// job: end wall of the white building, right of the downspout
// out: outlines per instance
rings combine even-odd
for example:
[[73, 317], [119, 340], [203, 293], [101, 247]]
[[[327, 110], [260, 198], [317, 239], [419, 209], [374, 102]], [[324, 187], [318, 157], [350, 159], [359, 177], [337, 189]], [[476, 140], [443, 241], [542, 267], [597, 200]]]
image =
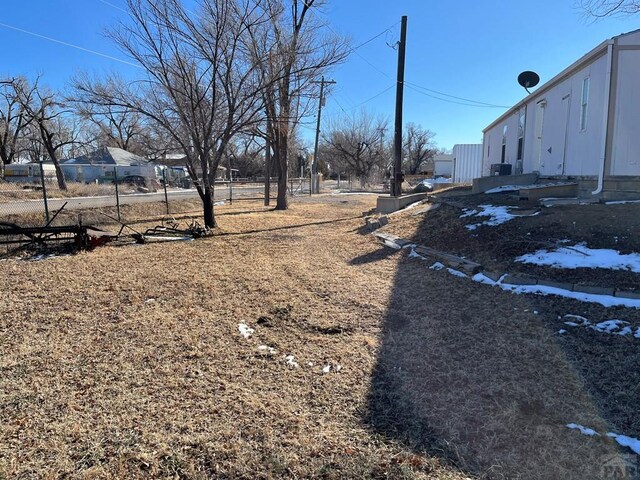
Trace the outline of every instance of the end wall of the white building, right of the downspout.
[[618, 52], [611, 175], [640, 175], [640, 51]]

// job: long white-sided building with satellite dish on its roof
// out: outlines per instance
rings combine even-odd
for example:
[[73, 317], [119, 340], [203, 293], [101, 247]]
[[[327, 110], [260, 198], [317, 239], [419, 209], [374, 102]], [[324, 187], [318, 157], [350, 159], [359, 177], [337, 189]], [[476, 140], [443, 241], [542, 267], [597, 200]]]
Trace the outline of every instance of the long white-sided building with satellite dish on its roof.
[[582, 195], [640, 196], [639, 78], [640, 30], [602, 42], [484, 129], [483, 175], [494, 166], [575, 180]]

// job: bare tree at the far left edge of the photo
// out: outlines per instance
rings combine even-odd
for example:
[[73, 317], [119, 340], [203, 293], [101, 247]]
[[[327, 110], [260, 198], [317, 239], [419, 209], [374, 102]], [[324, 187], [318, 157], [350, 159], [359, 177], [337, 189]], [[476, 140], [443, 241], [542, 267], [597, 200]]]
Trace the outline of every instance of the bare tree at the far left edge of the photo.
[[4, 166], [20, 155], [21, 139], [31, 121], [18, 97], [18, 92], [25, 92], [30, 101], [33, 92], [26, 83], [25, 78], [0, 81], [0, 176], [4, 176]]

